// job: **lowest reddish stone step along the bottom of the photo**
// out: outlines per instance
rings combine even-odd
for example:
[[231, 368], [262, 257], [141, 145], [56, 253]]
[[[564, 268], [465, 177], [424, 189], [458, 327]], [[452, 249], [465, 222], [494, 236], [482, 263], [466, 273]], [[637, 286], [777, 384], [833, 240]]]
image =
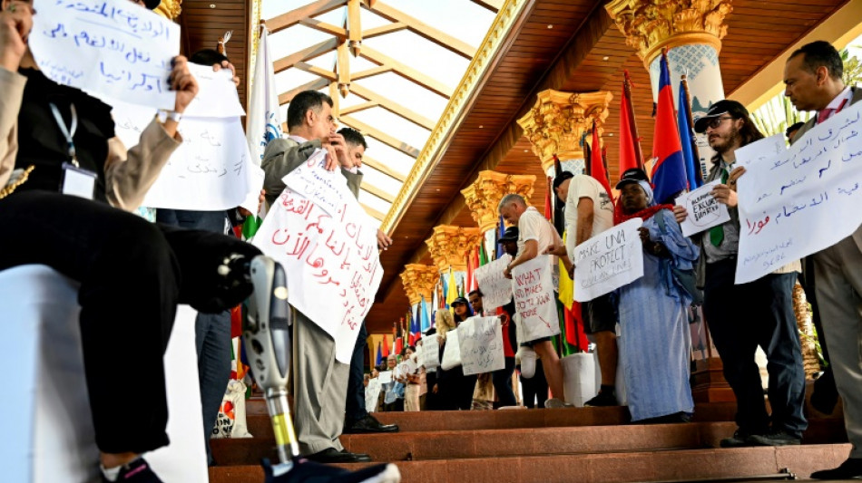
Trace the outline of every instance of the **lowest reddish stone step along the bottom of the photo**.
[[[817, 469], [838, 466], [847, 459], [849, 450], [848, 444], [811, 444], [782, 448], [429, 459], [399, 461], [397, 466], [405, 482], [434, 483], [691, 481], [704, 478], [754, 478], [775, 475], [782, 469], [789, 469], [798, 478], [808, 478]], [[361, 465], [341, 466], [361, 468]], [[263, 471], [256, 465], [215, 467], [210, 469], [210, 481], [260, 483], [263, 481]]]

